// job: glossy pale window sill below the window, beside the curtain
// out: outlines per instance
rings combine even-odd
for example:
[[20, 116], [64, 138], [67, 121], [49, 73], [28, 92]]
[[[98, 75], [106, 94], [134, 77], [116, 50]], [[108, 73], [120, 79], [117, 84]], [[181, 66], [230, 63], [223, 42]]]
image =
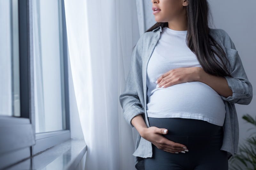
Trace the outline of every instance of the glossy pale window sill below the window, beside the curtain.
[[70, 139], [39, 152], [30, 159], [26, 159], [14, 166], [12, 169], [63, 169], [73, 170], [83, 158], [87, 151], [84, 139]]

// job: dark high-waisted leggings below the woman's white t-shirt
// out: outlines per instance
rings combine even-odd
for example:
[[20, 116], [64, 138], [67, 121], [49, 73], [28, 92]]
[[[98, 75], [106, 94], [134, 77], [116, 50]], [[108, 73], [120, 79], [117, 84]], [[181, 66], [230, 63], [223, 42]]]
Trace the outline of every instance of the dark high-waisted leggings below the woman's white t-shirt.
[[228, 170], [227, 152], [220, 150], [223, 127], [187, 118], [148, 117], [149, 125], [168, 129], [163, 135], [186, 145], [188, 152], [171, 153], [154, 144], [153, 157], [144, 159], [145, 170]]

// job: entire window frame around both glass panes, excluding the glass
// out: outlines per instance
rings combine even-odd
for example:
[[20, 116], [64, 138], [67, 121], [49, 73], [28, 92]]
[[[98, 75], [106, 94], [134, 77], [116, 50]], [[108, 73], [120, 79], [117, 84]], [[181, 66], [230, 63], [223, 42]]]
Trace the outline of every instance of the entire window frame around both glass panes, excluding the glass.
[[[35, 133], [34, 101], [34, 55], [33, 55], [33, 0], [19, 0], [19, 61], [20, 61], [20, 117], [0, 116], [0, 169], [17, 164], [40, 152], [65, 142], [70, 137], [69, 87], [68, 87], [68, 42], [64, 0], [61, 4], [62, 54], [64, 74], [66, 129]], [[12, 0], [11, 0], [12, 2]], [[13, 80], [12, 80], [13, 81]], [[63, 93], [62, 93], [63, 94]]]

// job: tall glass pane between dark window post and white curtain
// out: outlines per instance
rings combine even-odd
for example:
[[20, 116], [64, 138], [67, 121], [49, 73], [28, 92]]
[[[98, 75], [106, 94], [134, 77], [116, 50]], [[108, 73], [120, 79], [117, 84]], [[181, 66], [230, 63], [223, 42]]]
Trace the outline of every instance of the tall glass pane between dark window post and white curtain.
[[61, 1], [32, 2], [36, 133], [64, 130]]

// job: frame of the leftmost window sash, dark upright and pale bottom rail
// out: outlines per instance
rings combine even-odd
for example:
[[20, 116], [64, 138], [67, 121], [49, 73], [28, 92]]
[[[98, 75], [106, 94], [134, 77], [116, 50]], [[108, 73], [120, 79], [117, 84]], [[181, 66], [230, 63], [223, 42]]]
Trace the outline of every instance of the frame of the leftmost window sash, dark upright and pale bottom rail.
[[31, 124], [34, 115], [34, 77], [33, 68], [31, 70], [33, 43], [29, 34], [32, 31], [29, 9], [28, 1], [18, 1], [20, 117], [0, 116], [0, 168], [29, 158], [31, 146], [36, 144], [35, 128]]

